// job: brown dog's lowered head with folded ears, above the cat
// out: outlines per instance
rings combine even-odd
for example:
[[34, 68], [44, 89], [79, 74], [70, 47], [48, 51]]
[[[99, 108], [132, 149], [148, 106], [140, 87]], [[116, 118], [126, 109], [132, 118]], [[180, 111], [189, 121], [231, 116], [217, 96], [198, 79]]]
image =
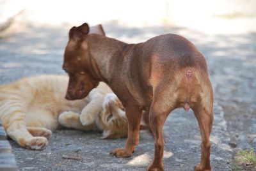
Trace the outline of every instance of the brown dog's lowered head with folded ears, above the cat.
[[[101, 25], [92, 27], [90, 33], [105, 33]], [[88, 45], [89, 26], [84, 23], [79, 27], [72, 27], [64, 54], [63, 70], [68, 73], [69, 81], [67, 100], [85, 98], [90, 91], [97, 87], [99, 79], [93, 73], [93, 61], [90, 58]]]

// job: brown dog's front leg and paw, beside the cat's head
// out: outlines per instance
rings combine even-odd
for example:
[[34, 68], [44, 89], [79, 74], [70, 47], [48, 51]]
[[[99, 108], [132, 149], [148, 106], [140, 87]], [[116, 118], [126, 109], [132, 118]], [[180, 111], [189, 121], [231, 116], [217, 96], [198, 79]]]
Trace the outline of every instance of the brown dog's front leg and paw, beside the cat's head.
[[140, 123], [142, 110], [138, 107], [125, 107], [128, 120], [128, 138], [124, 148], [113, 149], [111, 156], [116, 158], [129, 158], [134, 152], [135, 146], [139, 144]]

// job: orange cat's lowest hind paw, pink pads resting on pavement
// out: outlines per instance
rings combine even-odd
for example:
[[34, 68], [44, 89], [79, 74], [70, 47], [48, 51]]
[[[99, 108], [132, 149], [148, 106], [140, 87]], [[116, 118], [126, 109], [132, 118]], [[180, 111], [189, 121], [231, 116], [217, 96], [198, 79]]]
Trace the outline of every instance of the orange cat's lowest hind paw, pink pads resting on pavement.
[[26, 148], [33, 150], [42, 150], [48, 145], [48, 140], [45, 137], [33, 137], [26, 140]]

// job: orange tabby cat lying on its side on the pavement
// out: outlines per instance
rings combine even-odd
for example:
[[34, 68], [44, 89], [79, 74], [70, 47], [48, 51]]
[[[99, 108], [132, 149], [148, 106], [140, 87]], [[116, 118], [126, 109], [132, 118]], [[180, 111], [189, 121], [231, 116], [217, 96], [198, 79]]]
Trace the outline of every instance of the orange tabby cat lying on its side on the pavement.
[[45, 148], [59, 123], [101, 130], [103, 138], [127, 136], [124, 107], [108, 85], [101, 82], [83, 100], [68, 101], [67, 84], [66, 76], [42, 75], [0, 85], [0, 119], [8, 136], [36, 150]]

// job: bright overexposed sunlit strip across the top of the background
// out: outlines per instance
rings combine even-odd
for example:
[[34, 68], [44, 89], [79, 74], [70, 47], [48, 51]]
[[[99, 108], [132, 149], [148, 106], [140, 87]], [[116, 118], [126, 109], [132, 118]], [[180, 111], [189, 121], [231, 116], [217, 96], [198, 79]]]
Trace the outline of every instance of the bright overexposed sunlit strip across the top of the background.
[[18, 14], [15, 23], [22, 25], [117, 22], [129, 27], [181, 26], [207, 34], [239, 34], [256, 29], [254, 0], [1, 0], [0, 7], [0, 22]]

